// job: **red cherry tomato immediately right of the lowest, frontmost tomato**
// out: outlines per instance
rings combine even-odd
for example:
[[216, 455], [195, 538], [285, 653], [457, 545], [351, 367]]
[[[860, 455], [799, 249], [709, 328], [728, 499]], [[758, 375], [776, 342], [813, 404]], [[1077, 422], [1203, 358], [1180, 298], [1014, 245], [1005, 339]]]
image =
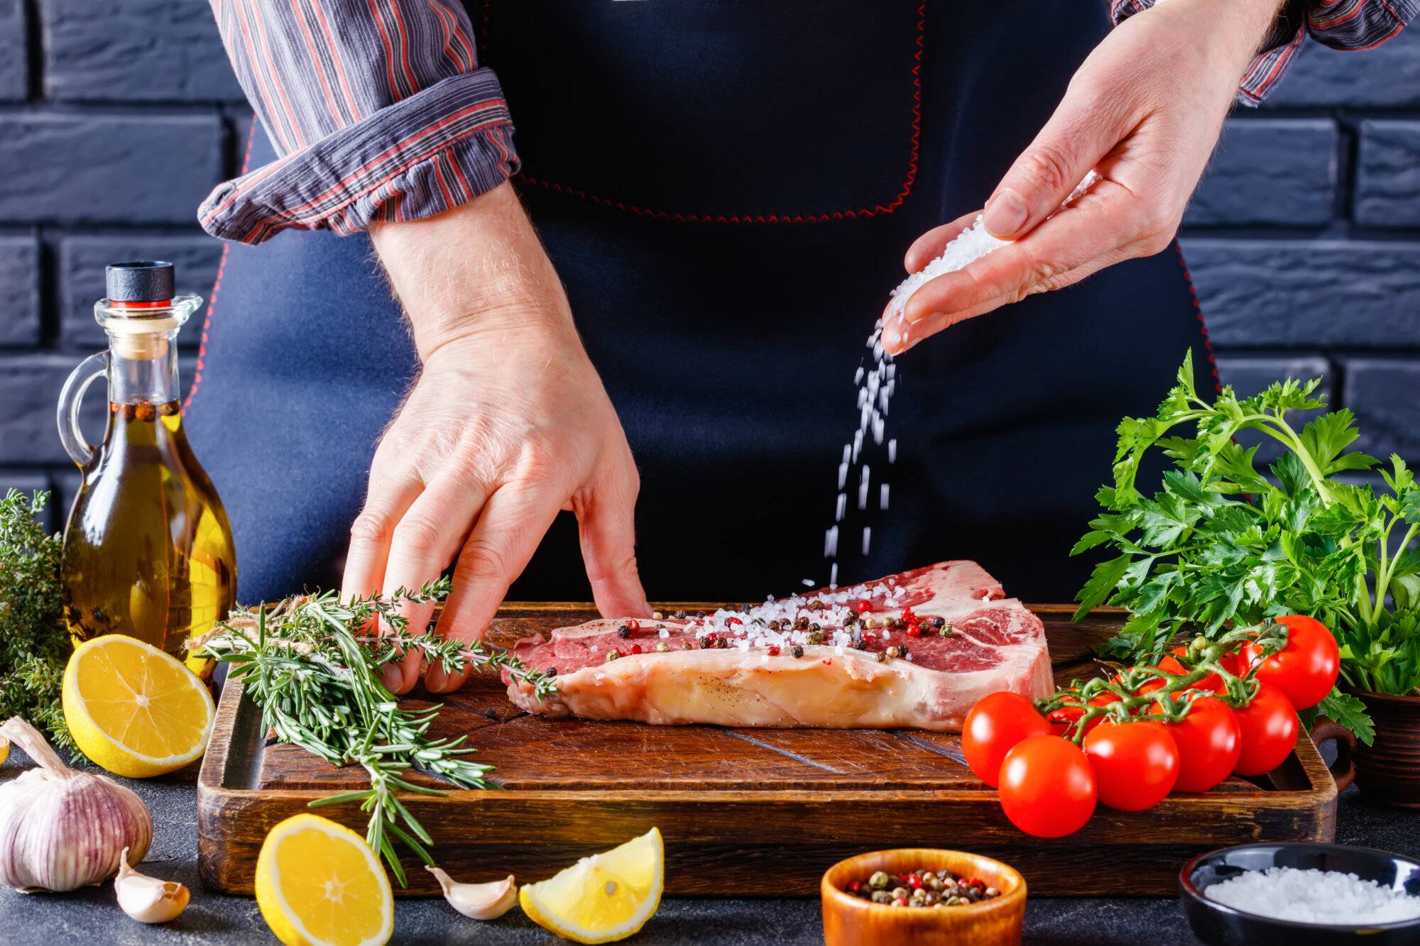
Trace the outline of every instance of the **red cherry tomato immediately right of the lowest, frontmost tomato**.
[[1170, 726], [1153, 720], [1105, 720], [1085, 736], [1099, 800], [1120, 811], [1143, 811], [1163, 801], [1179, 780], [1179, 747]]

